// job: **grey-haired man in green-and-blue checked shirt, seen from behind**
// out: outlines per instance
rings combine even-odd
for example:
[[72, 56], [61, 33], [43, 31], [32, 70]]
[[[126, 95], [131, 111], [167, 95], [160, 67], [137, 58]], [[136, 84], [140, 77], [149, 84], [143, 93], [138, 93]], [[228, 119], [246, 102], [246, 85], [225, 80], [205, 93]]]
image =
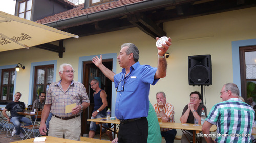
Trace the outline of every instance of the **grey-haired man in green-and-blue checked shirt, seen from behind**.
[[[210, 127], [217, 126], [217, 137], [204, 137], [207, 142], [251, 142], [255, 112], [250, 105], [239, 99], [239, 89], [234, 83], [227, 83], [221, 89], [223, 102], [211, 108], [203, 124], [204, 134], [210, 134]], [[242, 135], [242, 136], [241, 136]]]

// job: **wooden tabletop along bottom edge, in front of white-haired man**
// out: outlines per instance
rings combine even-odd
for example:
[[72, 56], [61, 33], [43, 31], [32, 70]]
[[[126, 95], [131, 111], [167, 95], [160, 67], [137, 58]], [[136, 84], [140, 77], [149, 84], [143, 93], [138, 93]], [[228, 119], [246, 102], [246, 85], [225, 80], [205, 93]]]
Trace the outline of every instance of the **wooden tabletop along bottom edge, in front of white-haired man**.
[[[41, 137], [46, 137], [46, 141], [44, 143], [93, 143], [93, 142], [103, 142], [103, 140], [99, 140], [99, 139], [90, 139], [89, 141], [75, 141], [75, 140], [70, 140], [70, 139], [64, 139], [64, 138], [58, 138], [58, 137], [52, 137], [52, 136], [41, 136]], [[33, 142], [35, 138], [31, 138], [31, 139], [26, 139], [26, 140], [19, 140], [19, 141], [15, 141], [12, 143], [35, 143]], [[110, 142], [110, 141], [108, 141]], [[42, 142], [41, 142], [42, 143]]]

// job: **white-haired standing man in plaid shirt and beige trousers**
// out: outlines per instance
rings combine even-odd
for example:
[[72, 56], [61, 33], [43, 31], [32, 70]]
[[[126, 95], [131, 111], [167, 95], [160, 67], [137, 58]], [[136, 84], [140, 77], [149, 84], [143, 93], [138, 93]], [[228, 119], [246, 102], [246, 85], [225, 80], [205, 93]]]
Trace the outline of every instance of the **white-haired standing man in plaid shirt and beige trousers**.
[[[80, 141], [81, 117], [83, 109], [90, 105], [86, 88], [74, 81], [74, 69], [70, 64], [59, 67], [60, 81], [50, 84], [47, 91], [44, 110], [42, 111], [40, 134], [46, 135], [46, 119], [51, 111], [49, 136]], [[67, 105], [76, 104], [71, 113], [65, 113]]]

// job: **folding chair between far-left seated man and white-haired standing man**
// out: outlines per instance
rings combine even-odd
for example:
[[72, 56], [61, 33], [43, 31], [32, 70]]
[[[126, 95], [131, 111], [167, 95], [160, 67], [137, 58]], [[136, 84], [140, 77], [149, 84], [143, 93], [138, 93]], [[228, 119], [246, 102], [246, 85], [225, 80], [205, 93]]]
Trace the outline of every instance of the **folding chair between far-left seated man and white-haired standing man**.
[[25, 136], [23, 139], [31, 138], [30, 136], [32, 135], [32, 133], [33, 133], [32, 138], [42, 136], [39, 132], [39, 127], [40, 127], [40, 124], [38, 123], [39, 121], [36, 120], [37, 118], [41, 118], [41, 115], [42, 115], [42, 111], [37, 111], [35, 115], [34, 124], [29, 126], [22, 126], [23, 130], [25, 131]]

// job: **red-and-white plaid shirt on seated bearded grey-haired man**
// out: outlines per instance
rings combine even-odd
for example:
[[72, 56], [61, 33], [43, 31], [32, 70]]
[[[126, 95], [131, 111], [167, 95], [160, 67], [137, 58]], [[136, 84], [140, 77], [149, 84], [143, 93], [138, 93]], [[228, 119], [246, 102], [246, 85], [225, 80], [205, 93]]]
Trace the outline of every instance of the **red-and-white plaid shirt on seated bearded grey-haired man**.
[[[154, 107], [156, 113], [160, 113], [158, 103], [156, 103], [153, 107]], [[163, 111], [164, 111], [165, 115], [167, 115], [170, 118], [168, 122], [174, 123], [174, 106], [172, 106], [170, 103], [166, 102], [163, 107]], [[172, 130], [170, 128], [160, 128], [160, 129], [162, 132]]]

